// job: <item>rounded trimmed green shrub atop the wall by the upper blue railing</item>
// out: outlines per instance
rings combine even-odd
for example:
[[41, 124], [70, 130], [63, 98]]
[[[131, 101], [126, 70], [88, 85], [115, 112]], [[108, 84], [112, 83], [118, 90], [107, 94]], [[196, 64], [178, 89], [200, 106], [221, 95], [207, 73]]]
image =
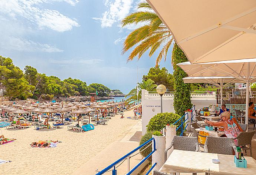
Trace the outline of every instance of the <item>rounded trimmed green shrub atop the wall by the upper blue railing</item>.
[[[151, 131], [151, 132], [161, 131], [161, 129], [163, 129], [167, 124], [173, 124], [180, 118], [181, 116], [175, 113], [168, 113], [168, 112], [158, 113], [157, 115], [153, 116], [148, 122], [147, 131]], [[175, 125], [180, 126], [181, 120], [178, 121]], [[184, 126], [186, 125], [184, 124]], [[178, 131], [176, 132], [176, 135], [180, 135], [180, 133], [181, 133], [181, 129], [178, 129]]]

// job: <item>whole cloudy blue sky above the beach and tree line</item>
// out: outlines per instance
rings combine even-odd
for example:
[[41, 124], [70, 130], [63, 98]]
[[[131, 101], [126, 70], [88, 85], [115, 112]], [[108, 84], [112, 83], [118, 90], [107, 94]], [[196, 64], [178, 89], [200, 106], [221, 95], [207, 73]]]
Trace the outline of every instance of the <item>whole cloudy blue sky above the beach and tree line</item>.
[[[1, 0], [0, 55], [24, 69], [61, 80], [68, 77], [101, 83], [128, 93], [157, 54], [127, 62], [121, 55], [125, 37], [138, 26], [122, 28], [121, 20], [137, 10], [140, 0]], [[171, 49], [170, 49], [171, 50]], [[160, 67], [173, 72], [171, 54]]]

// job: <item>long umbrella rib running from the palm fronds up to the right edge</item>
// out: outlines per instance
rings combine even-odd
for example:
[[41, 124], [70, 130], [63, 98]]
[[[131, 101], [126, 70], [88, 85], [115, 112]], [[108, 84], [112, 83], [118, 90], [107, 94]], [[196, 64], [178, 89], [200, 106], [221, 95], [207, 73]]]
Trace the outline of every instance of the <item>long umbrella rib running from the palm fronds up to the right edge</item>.
[[236, 16], [234, 16], [234, 17], [232, 17], [232, 18], [230, 18], [230, 19], [228, 19], [228, 20], [226, 20], [226, 21], [220, 22], [219, 24], [216, 24], [216, 25], [214, 25], [214, 26], [211, 26], [211, 27], [207, 28], [206, 30], [203, 30], [203, 31], [201, 31], [201, 32], [198, 32], [198, 33], [196, 33], [196, 34], [194, 34], [194, 35], [192, 35], [192, 36], [188, 36], [188, 37], [186, 37], [186, 38], [180, 40], [180, 41], [178, 42], [178, 45], [179, 45], [179, 44], [182, 44], [182, 43], [184, 43], [184, 42], [187, 42], [187, 41], [189, 41], [189, 40], [191, 40], [191, 39], [193, 39], [193, 38], [195, 38], [195, 37], [198, 37], [198, 36], [200, 36], [200, 35], [202, 35], [202, 34], [204, 34], [204, 33], [210, 32], [211, 30], [217, 29], [218, 27], [221, 27], [221, 26], [223, 26], [224, 24], [230, 23], [230, 22], [232, 22], [232, 21], [234, 21], [234, 20], [236, 20], [236, 19], [239, 19], [239, 18], [241, 18], [241, 17], [243, 17], [243, 16], [246, 16], [247, 14], [253, 13], [254, 11], [256, 11], [256, 7], [254, 7], [253, 9], [244, 11], [243, 13], [240, 13], [240, 14], [238, 14], [238, 15], [236, 15]]

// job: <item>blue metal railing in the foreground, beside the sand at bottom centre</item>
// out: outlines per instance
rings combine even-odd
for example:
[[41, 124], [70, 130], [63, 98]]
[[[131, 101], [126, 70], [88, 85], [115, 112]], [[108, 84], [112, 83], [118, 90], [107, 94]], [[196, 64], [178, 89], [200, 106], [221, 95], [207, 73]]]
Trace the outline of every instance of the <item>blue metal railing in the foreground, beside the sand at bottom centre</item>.
[[[134, 150], [132, 150], [131, 152], [129, 152], [128, 154], [126, 154], [125, 156], [123, 156], [122, 158], [118, 159], [117, 161], [115, 161], [113, 164], [109, 165], [108, 167], [106, 167], [105, 169], [103, 169], [102, 171], [98, 172], [96, 175], [102, 175], [104, 174], [105, 172], [108, 172], [109, 169], [113, 168], [114, 169], [112, 170], [112, 175], [116, 175], [117, 174], [117, 171], [115, 169], [115, 166], [120, 163], [121, 161], [123, 161], [124, 159], [126, 159], [128, 156], [130, 156], [132, 153], [134, 153], [135, 151], [137, 151], [138, 149], [142, 148], [143, 146], [147, 145], [149, 142], [153, 142], [153, 151], [147, 155], [144, 159], [142, 159], [136, 166], [134, 166], [134, 168], [131, 169], [131, 171], [129, 171], [127, 173], [127, 175], [131, 175], [132, 172], [135, 171], [135, 169], [137, 169], [143, 162], [145, 162], [157, 149], [155, 149], [155, 138], [151, 138], [149, 139], [147, 142], [143, 143], [142, 145], [138, 146], [137, 148], [135, 148]], [[150, 168], [150, 170], [147, 172], [146, 175], [148, 175], [152, 169], [155, 167], [155, 165], [157, 165], [157, 163], [155, 163], [154, 165], [152, 165], [152, 167]]]

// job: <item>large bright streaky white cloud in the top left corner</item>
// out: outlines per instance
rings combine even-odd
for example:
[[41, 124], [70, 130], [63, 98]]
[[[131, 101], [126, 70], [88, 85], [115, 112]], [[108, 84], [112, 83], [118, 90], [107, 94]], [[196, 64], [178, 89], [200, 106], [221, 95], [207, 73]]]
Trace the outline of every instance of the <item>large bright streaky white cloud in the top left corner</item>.
[[58, 32], [79, 27], [75, 19], [61, 14], [59, 11], [43, 9], [43, 3], [52, 1], [65, 1], [74, 6], [78, 0], [1, 0], [0, 13], [13, 19], [25, 18], [29, 23], [37, 24], [39, 29], [50, 28]]

